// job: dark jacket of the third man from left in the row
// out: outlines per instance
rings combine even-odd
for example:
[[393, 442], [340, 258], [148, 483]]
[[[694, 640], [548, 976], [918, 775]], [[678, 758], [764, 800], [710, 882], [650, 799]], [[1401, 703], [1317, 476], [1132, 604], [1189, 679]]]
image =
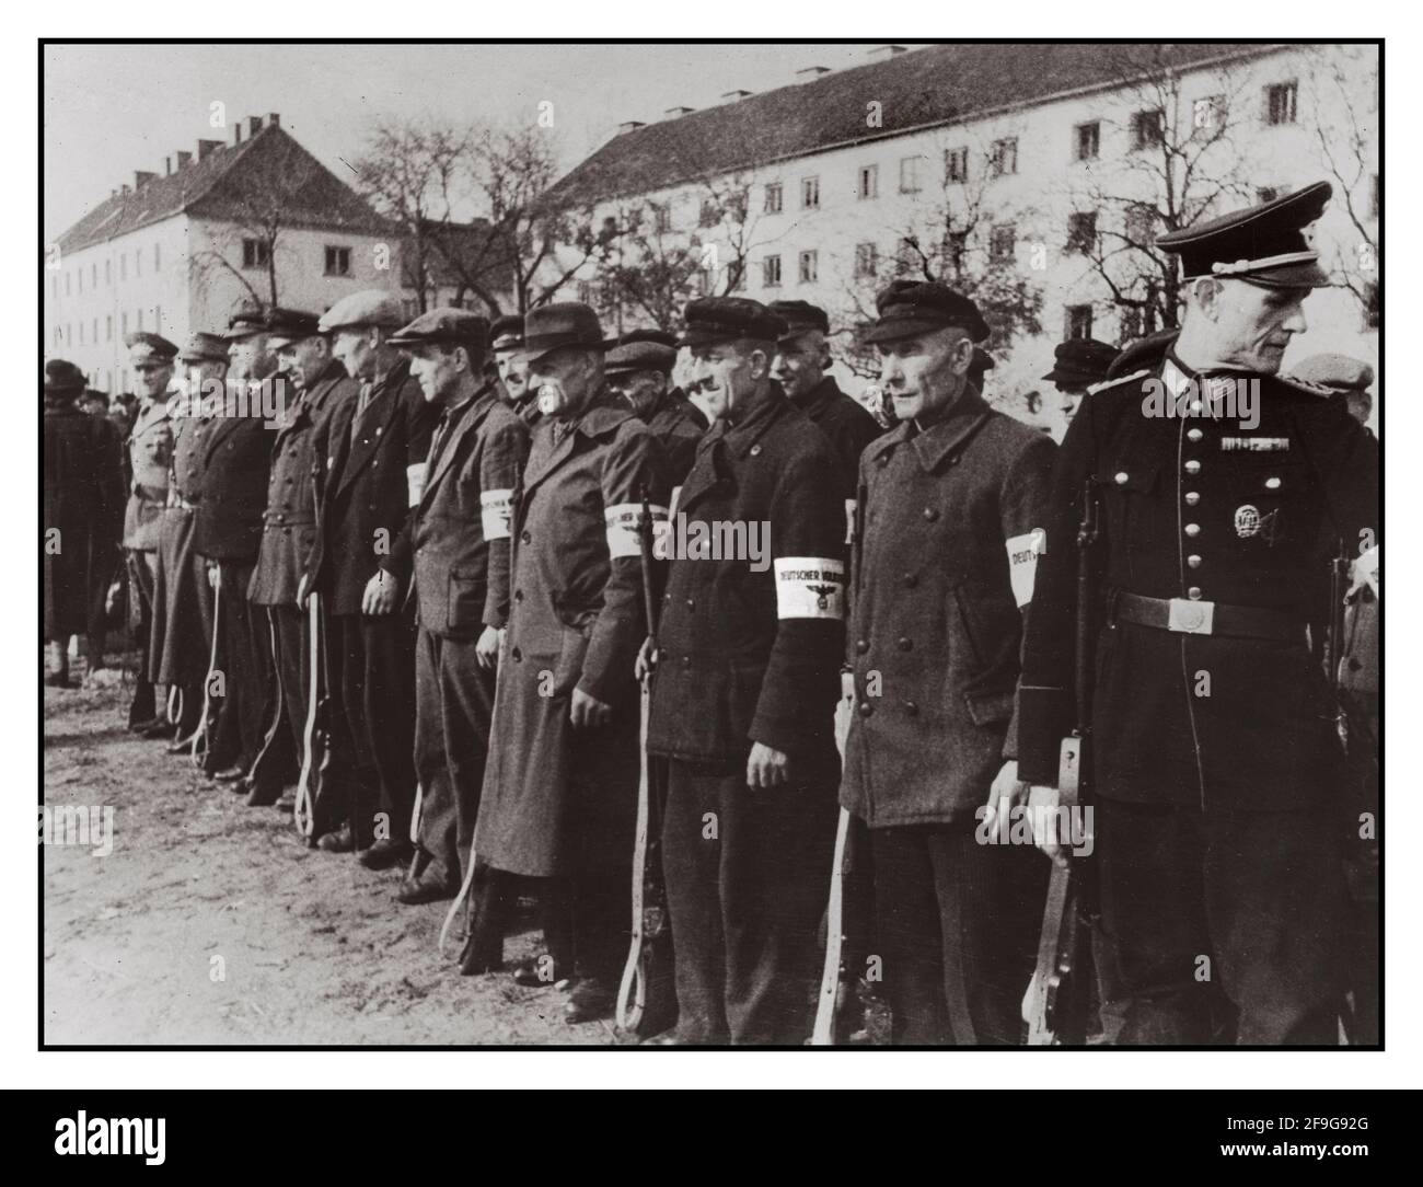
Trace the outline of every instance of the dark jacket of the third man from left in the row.
[[268, 475], [272, 473], [272, 430], [263, 407], [272, 407], [268, 393], [279, 391], [286, 380], [268, 376], [249, 384], [246, 407], [233, 384], [228, 386], [226, 407], [208, 420], [202, 445], [202, 498], [194, 548], [201, 556], [228, 564], [256, 559], [262, 541], [262, 508], [266, 507]]

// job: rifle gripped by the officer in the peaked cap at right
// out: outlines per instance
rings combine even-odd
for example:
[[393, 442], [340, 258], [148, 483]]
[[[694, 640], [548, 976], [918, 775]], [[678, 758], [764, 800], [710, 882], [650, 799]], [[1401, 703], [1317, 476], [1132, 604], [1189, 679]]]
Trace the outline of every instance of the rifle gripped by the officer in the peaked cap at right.
[[[1100, 527], [1097, 495], [1089, 478], [1083, 488], [1081, 522], [1077, 525], [1077, 613], [1073, 672], [1074, 724], [1062, 742], [1057, 760], [1059, 806], [1072, 818], [1087, 796], [1091, 779], [1091, 632], [1093, 545]], [[1023, 1020], [1029, 1046], [1081, 1046], [1087, 1040], [1087, 1006], [1091, 993], [1089, 924], [1090, 887], [1086, 870], [1053, 862], [1047, 905], [1037, 941], [1037, 966], [1023, 995]]]

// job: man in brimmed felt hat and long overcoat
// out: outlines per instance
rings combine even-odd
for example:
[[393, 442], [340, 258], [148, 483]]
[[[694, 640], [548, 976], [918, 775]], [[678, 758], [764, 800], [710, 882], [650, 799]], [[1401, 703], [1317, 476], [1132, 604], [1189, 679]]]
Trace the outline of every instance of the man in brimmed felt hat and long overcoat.
[[[586, 305], [525, 320], [542, 418], [515, 500], [514, 594], [475, 847], [539, 878], [565, 1018], [605, 1016], [628, 954], [638, 804], [638, 685], [646, 638], [642, 494], [666, 515], [662, 454], [603, 377]], [[572, 965], [572, 968], [569, 968]], [[524, 976], [515, 971], [515, 978]]]

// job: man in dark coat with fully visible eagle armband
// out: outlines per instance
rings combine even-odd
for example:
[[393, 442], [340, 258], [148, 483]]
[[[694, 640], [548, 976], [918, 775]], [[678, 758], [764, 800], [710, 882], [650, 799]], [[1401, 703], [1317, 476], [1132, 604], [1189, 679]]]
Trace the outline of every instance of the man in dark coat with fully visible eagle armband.
[[[801, 1043], [810, 1030], [835, 835], [845, 525], [837, 453], [771, 380], [784, 334], [744, 297], [686, 309], [689, 384], [714, 423], [665, 538], [647, 727], [647, 750], [667, 760], [677, 1043]], [[720, 538], [714, 551], [697, 548], [703, 534]]]

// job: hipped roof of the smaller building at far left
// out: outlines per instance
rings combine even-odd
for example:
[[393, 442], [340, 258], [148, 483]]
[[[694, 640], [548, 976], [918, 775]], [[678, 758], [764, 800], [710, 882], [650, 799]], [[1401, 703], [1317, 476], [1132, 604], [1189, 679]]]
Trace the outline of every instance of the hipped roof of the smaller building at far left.
[[263, 192], [280, 194], [285, 226], [394, 233], [285, 128], [268, 124], [242, 144], [215, 148], [175, 174], [110, 196], [60, 236], [60, 249], [75, 252], [184, 212], [242, 221]]

